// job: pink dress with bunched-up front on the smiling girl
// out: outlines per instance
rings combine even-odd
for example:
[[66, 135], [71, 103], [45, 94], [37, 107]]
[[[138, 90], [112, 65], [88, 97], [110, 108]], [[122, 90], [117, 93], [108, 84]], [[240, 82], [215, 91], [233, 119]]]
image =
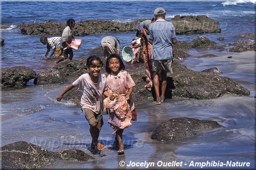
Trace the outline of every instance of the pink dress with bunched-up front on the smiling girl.
[[105, 107], [110, 110], [108, 123], [114, 130], [125, 129], [131, 124], [131, 111], [134, 110], [134, 101], [130, 95], [129, 103], [125, 100], [125, 95], [129, 88], [135, 86], [130, 74], [126, 70], [122, 70], [119, 74], [109, 74], [107, 77], [108, 92], [114, 93], [115, 100], [110, 101], [109, 98], [104, 100]]

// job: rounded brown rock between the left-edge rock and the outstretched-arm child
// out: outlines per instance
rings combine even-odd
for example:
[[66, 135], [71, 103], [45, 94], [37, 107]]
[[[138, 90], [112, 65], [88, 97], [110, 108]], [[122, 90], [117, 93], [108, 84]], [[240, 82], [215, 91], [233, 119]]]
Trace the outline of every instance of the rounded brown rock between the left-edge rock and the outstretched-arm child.
[[52, 84], [67, 82], [66, 75], [55, 68], [40, 71], [34, 79], [34, 84]]

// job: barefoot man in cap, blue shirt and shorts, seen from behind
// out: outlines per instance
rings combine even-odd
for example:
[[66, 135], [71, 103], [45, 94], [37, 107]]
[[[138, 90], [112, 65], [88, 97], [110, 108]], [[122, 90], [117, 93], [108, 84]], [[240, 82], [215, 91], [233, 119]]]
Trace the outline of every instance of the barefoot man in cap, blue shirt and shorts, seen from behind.
[[[172, 48], [173, 44], [175, 44], [177, 40], [173, 24], [165, 20], [165, 9], [156, 8], [154, 10], [154, 17], [156, 18], [156, 21], [149, 25], [149, 36], [147, 36], [147, 39], [153, 46], [152, 70], [153, 85], [156, 95], [156, 101], [154, 102], [154, 104], [161, 105], [161, 103], [165, 100], [165, 90], [167, 86], [167, 71], [172, 73]], [[161, 96], [159, 89], [160, 76], [162, 79]]]

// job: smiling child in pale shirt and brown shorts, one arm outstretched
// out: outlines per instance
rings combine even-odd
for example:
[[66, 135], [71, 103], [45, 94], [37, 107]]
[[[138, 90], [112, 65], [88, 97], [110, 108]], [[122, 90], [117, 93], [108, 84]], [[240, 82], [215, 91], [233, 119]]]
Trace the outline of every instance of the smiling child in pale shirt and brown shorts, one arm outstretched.
[[91, 152], [93, 152], [95, 147], [99, 151], [106, 148], [105, 145], [98, 141], [100, 131], [103, 126], [103, 94], [108, 96], [110, 100], [114, 100], [113, 94], [109, 95], [107, 91], [107, 78], [106, 75], [101, 73], [102, 66], [103, 62], [99, 57], [88, 57], [86, 68], [89, 72], [80, 76], [57, 96], [57, 101], [60, 102], [63, 95], [74, 87], [77, 87], [78, 90], [83, 90], [81, 107], [90, 125], [90, 134], [92, 137]]

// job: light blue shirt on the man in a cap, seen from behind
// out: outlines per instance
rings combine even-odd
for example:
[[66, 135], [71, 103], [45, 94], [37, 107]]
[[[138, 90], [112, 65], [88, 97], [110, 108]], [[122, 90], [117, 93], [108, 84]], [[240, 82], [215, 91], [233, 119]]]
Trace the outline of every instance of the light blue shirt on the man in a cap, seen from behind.
[[171, 22], [157, 19], [149, 25], [149, 39], [153, 41], [154, 60], [173, 58], [172, 40], [176, 39], [175, 29]]

